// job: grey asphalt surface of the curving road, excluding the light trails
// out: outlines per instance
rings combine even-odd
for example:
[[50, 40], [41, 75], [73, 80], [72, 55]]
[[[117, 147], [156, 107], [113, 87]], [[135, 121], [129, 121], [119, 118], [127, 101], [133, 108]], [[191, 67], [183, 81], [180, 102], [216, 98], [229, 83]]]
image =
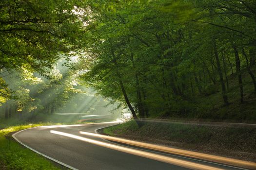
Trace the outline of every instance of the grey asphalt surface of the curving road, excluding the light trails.
[[[44, 155], [47, 155], [59, 162], [79, 170], [189, 170], [177, 165], [125, 153], [104, 146], [99, 146], [94, 143], [82, 141], [69, 136], [53, 134], [50, 132], [51, 130], [54, 130], [76, 136], [86, 137], [93, 139], [94, 141], [97, 140], [100, 142], [120, 146], [120, 144], [115, 144], [98, 137], [84, 136], [79, 133], [79, 131], [95, 133], [96, 129], [114, 124], [117, 124], [117, 122], [44, 126], [20, 131], [19, 133], [14, 134], [14, 137], [21, 143], [36, 150], [37, 152], [43, 153]], [[123, 147], [130, 148], [130, 146], [127, 145], [123, 145]], [[216, 167], [223, 170], [244, 170], [172, 154], [157, 153], [154, 151], [134, 147], [133, 149]]]

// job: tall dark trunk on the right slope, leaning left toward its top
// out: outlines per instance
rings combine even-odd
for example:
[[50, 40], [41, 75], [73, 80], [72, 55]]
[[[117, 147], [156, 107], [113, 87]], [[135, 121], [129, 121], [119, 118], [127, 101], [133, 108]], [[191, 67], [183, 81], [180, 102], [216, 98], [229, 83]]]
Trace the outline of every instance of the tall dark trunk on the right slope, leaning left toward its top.
[[215, 54], [215, 59], [216, 59], [216, 63], [217, 63], [217, 70], [218, 70], [218, 75], [219, 75], [219, 81], [220, 81], [221, 89], [222, 89], [222, 98], [223, 98], [224, 104], [228, 105], [229, 102], [228, 102], [228, 97], [227, 97], [225, 83], [224, 83], [224, 80], [223, 80], [222, 70], [221, 70], [221, 67], [220, 67], [218, 51], [217, 51], [217, 45], [216, 45], [216, 40], [215, 39], [213, 39], [213, 45], [214, 45], [214, 54]]

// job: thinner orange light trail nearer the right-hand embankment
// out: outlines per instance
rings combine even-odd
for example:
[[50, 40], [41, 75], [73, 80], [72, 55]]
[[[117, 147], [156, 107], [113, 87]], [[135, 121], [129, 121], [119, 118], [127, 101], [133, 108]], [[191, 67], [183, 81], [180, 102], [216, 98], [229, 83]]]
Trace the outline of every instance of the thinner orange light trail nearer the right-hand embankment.
[[122, 139], [119, 137], [112, 137], [112, 136], [105, 136], [105, 135], [99, 135], [99, 134], [93, 134], [89, 132], [79, 132], [80, 134], [83, 135], [88, 135], [88, 136], [95, 136], [95, 137], [100, 137], [116, 142], [121, 142], [129, 145], [134, 145], [142, 148], [147, 148], [147, 149], [152, 149], [152, 150], [157, 150], [165, 153], [173, 153], [173, 154], [178, 154], [182, 156], [189, 156], [189, 157], [194, 157], [194, 158], [199, 158], [199, 159], [204, 159], [208, 161], [213, 161], [213, 162], [218, 162], [222, 164], [228, 164], [228, 165], [233, 165], [233, 166], [238, 166], [242, 168], [249, 168], [256, 170], [256, 163], [253, 162], [248, 162], [248, 161], [242, 161], [238, 159], [231, 159], [231, 158], [226, 158], [222, 156], [215, 156], [215, 155], [210, 155], [210, 154], [205, 154], [205, 153], [197, 153], [197, 152], [192, 152], [192, 151], [186, 151], [186, 150], [181, 150], [181, 149], [175, 149], [175, 148], [169, 148], [169, 147], [164, 147], [164, 146], [159, 146], [159, 145], [154, 145], [154, 144], [149, 144], [149, 143], [143, 143], [143, 142], [138, 142], [138, 141], [133, 141], [133, 140], [127, 140], [127, 139]]

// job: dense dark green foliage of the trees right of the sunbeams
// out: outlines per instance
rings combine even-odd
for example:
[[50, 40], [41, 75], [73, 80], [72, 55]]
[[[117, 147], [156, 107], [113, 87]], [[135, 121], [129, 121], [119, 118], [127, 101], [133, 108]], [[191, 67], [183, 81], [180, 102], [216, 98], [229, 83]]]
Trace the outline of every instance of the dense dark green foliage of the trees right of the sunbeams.
[[87, 7], [80, 77], [141, 118], [212, 109], [198, 101], [218, 92], [228, 105], [235, 69], [239, 76], [247, 68], [256, 91], [254, 1], [89, 0]]

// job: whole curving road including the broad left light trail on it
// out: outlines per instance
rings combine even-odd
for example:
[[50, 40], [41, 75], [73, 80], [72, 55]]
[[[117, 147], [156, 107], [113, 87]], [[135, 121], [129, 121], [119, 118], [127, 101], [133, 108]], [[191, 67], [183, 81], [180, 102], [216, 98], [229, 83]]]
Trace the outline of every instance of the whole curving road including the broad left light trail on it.
[[13, 137], [73, 170], [245, 170], [79, 133], [96, 133], [97, 129], [115, 124], [118, 122], [41, 126], [22, 130]]

